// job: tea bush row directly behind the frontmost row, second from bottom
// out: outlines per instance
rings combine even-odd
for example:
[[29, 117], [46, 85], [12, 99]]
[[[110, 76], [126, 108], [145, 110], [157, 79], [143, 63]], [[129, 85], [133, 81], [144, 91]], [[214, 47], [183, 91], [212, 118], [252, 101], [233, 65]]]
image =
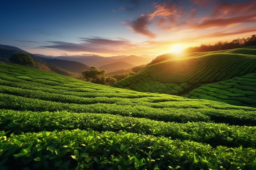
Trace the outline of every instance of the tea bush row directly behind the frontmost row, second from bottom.
[[40, 132], [42, 130], [128, 131], [144, 135], [171, 137], [171, 139], [191, 140], [211, 146], [255, 148], [256, 127], [229, 126], [206, 122], [154, 121], [145, 118], [124, 117], [109, 114], [31, 112], [0, 110], [0, 128], [10, 133]]

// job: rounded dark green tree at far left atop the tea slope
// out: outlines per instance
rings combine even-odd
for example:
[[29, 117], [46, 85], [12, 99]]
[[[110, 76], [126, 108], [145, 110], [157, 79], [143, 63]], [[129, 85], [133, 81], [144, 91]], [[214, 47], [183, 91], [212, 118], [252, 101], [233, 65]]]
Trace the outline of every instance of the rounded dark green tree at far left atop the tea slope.
[[32, 67], [35, 67], [36, 64], [30, 55], [27, 53], [13, 53], [11, 57], [9, 58], [9, 61], [15, 64], [20, 64], [20, 65], [30, 65]]

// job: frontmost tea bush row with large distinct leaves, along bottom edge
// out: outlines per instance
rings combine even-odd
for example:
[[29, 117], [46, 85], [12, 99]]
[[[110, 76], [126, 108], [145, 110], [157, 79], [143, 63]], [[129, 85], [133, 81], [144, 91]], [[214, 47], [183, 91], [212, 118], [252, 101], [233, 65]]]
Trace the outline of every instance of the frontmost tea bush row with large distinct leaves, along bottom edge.
[[128, 132], [64, 130], [0, 135], [1, 169], [255, 169], [256, 150]]

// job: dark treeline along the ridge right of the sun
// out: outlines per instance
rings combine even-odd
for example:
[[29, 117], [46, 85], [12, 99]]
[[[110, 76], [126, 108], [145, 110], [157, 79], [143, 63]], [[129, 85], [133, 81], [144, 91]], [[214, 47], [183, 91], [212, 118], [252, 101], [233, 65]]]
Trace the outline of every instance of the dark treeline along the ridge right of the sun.
[[201, 46], [189, 47], [185, 51], [187, 53], [194, 52], [205, 52], [205, 51], [218, 51], [227, 49], [236, 49], [245, 46], [255, 46], [256, 45], [256, 35], [252, 35], [248, 38], [236, 39], [231, 42], [218, 42], [213, 45], [201, 44]]

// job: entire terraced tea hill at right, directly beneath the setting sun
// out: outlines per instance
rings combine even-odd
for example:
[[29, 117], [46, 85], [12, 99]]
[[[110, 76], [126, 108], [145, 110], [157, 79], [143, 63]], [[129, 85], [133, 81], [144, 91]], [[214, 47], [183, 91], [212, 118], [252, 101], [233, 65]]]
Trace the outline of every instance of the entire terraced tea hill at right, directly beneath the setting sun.
[[[251, 46], [185, 54], [147, 66], [113, 86], [141, 92], [211, 99], [240, 106], [255, 106], [255, 73], [256, 46]], [[233, 84], [230, 84], [231, 82]], [[215, 84], [211, 85], [212, 83]], [[205, 89], [207, 84], [214, 86], [215, 94]], [[239, 91], [234, 92], [236, 88]]]

